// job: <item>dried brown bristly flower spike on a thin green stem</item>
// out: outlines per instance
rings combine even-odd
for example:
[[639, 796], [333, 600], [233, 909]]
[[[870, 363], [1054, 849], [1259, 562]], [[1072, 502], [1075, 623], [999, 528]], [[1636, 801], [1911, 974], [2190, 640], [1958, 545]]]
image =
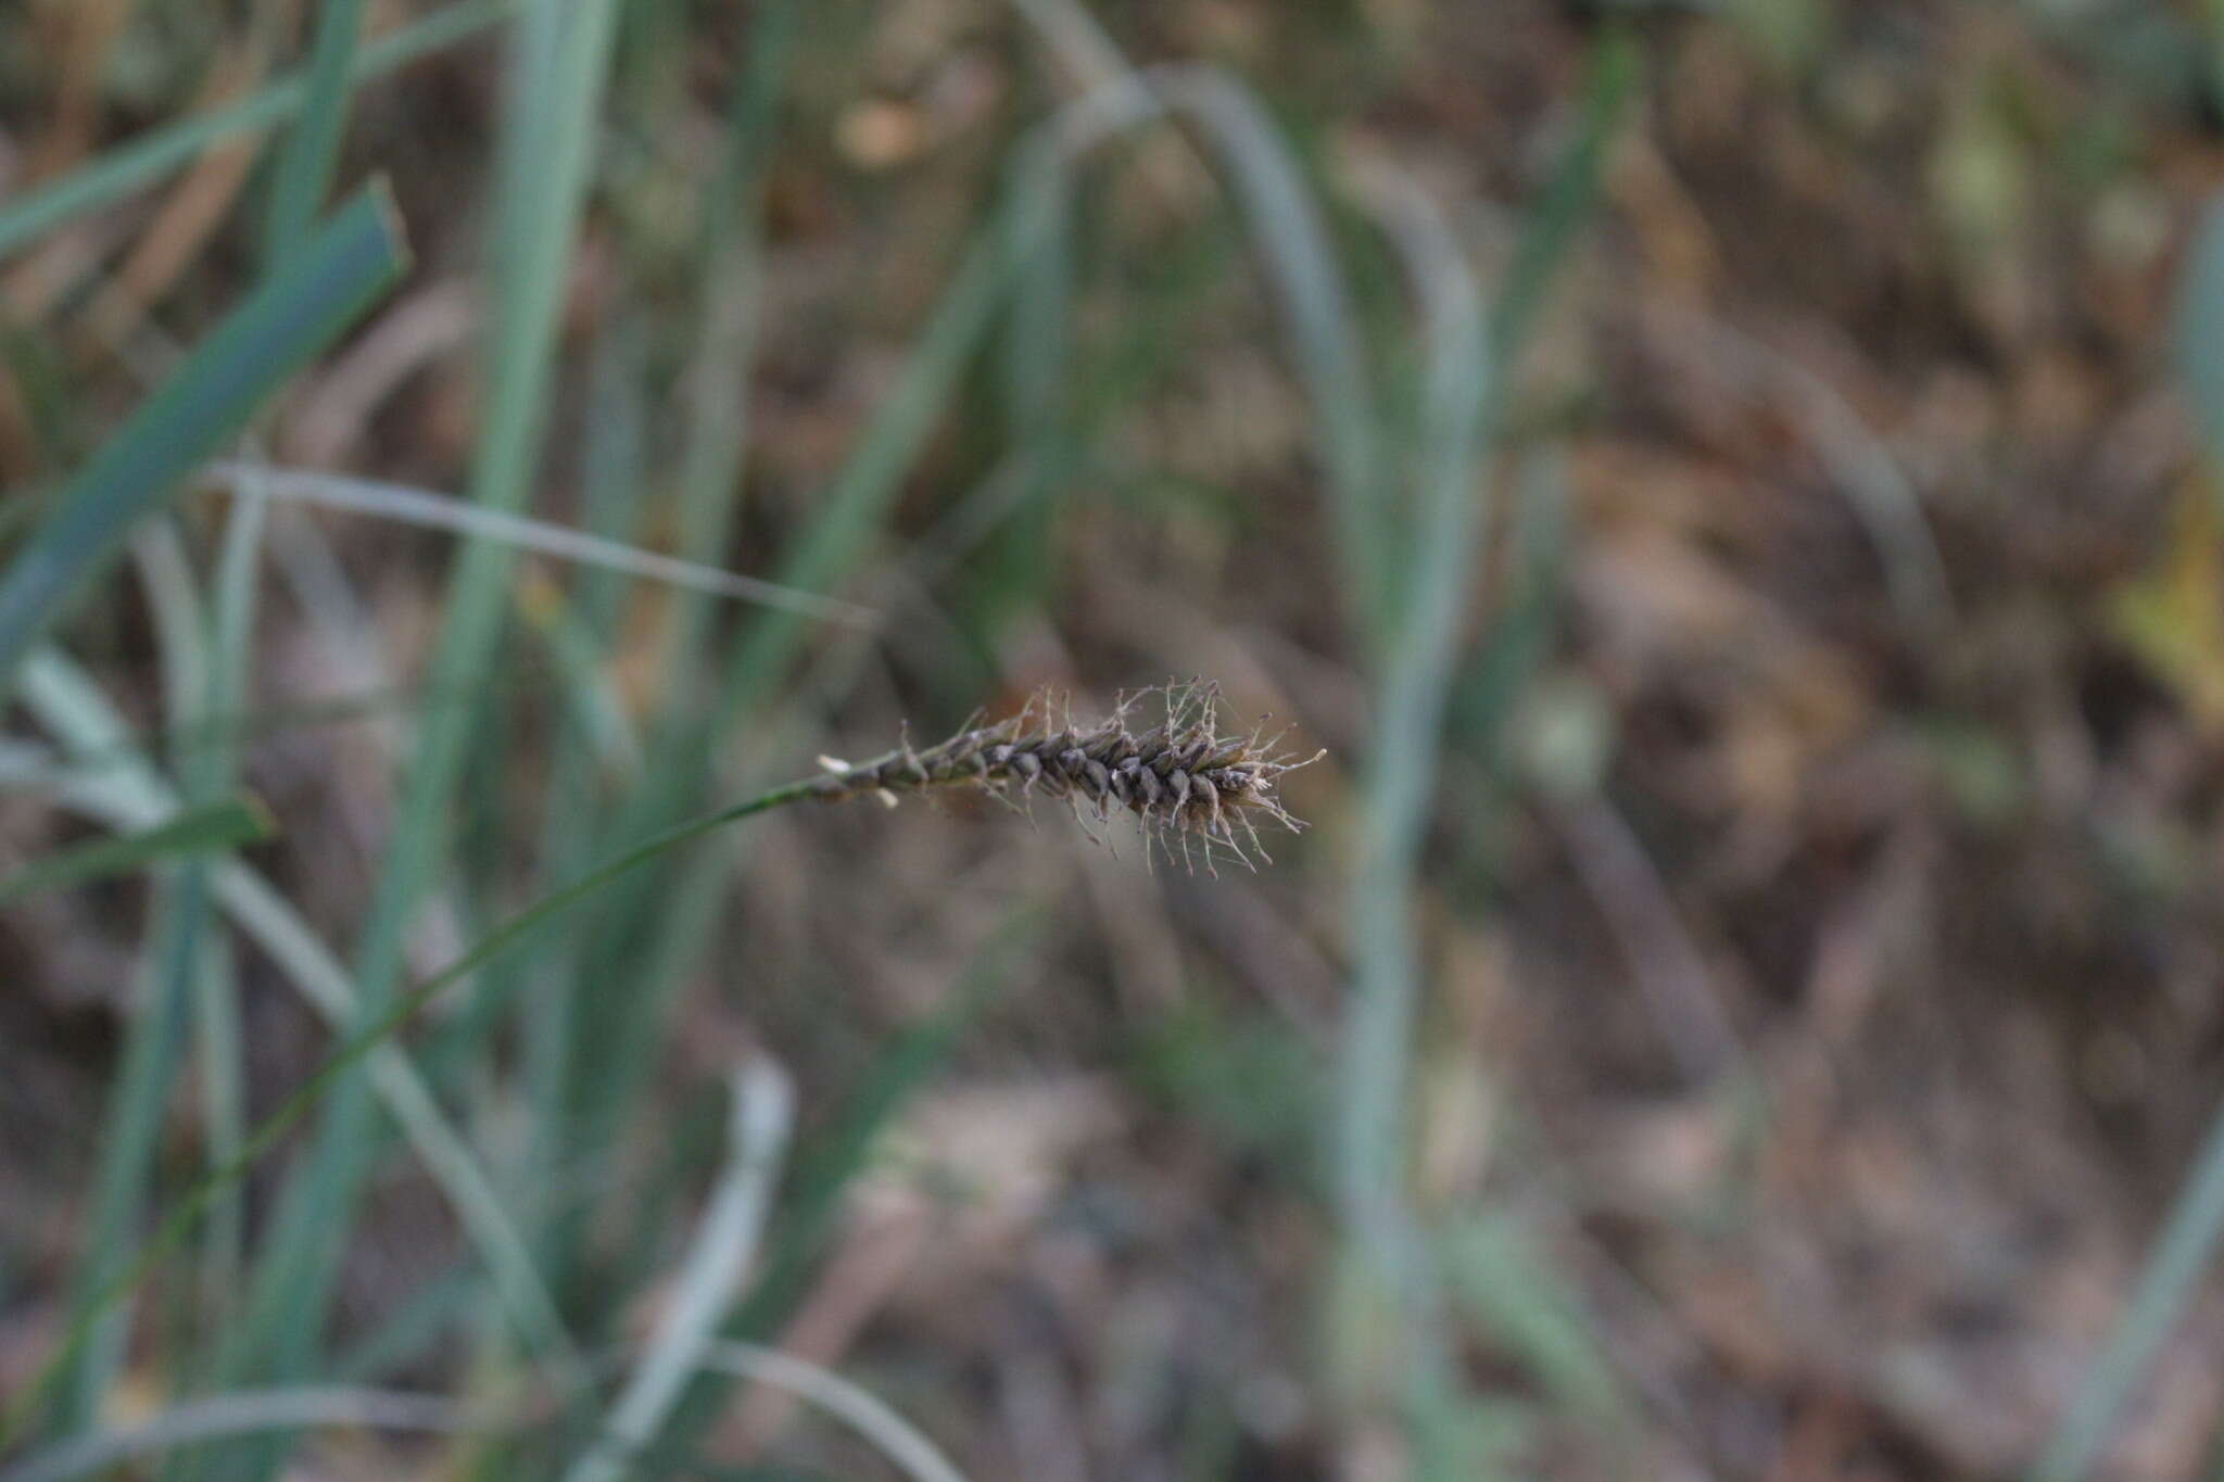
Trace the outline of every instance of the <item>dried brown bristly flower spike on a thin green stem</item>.
[[[1145, 695], [1163, 695], [1165, 720], [1136, 731], [1130, 711]], [[1070, 707], [1052, 707], [1045, 691], [1010, 720], [959, 731], [923, 751], [905, 744], [858, 764], [818, 758], [827, 775], [812, 782], [812, 793], [825, 800], [874, 793], [892, 807], [903, 793], [939, 787], [976, 787], [1021, 798], [1041, 793], [1070, 802], [1083, 824], [1083, 804], [1096, 818], [1125, 809], [1143, 829], [1145, 858], [1152, 840], [1168, 858], [1179, 842], [1188, 862], [1197, 840], [1205, 869], [1212, 869], [1214, 847], [1250, 864], [1252, 853], [1268, 858], [1257, 818], [1270, 818], [1292, 833], [1303, 829], [1274, 795], [1281, 773], [1326, 753], [1290, 760], [1274, 753], [1279, 738], [1263, 738], [1259, 731], [1223, 735], [1219, 711], [1219, 687], [1168, 684], [1123, 695], [1110, 720], [1076, 727]], [[1250, 849], [1243, 847], [1245, 840]]]

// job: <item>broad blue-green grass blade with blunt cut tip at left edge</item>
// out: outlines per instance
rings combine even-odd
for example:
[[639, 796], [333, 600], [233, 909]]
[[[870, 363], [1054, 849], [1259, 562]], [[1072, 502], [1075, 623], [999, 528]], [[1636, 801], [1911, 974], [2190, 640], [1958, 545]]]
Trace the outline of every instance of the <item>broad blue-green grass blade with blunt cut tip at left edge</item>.
[[158, 509], [287, 375], [331, 344], [400, 278], [405, 262], [391, 202], [374, 184], [107, 440], [0, 573], [0, 698], [38, 635], [98, 575], [131, 524]]

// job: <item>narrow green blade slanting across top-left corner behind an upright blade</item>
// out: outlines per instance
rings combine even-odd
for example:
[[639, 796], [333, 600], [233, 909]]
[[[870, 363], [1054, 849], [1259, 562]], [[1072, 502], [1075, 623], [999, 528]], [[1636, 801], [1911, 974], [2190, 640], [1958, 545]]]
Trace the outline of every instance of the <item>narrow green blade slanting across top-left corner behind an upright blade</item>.
[[[451, 4], [363, 47], [351, 80], [360, 84], [369, 78], [398, 71], [418, 58], [445, 51], [529, 2], [463, 0], [463, 4]], [[53, 184], [0, 202], [0, 258], [20, 251], [69, 220], [98, 211], [182, 169], [209, 144], [291, 118], [305, 107], [307, 98], [309, 84], [302, 76], [271, 82], [229, 109], [200, 113], [167, 129], [156, 129], [129, 144], [118, 144]]]

